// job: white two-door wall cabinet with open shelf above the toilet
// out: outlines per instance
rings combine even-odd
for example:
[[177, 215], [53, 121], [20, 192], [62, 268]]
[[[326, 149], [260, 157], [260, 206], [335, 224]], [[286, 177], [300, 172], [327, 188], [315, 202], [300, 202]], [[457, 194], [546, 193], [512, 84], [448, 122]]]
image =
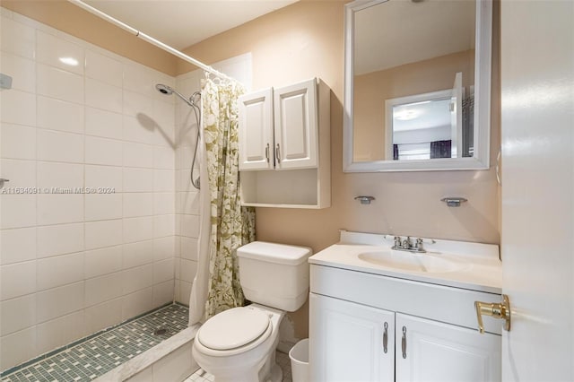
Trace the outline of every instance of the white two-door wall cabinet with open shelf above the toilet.
[[315, 78], [239, 98], [243, 205], [330, 206], [329, 104], [328, 87]]

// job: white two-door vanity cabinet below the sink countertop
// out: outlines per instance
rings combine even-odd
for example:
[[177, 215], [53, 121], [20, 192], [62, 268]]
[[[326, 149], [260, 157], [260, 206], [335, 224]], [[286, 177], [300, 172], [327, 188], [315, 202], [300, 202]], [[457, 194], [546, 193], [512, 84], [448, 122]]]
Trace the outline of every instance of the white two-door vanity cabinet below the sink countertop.
[[500, 325], [479, 334], [475, 300], [500, 294], [311, 264], [310, 380], [500, 381]]

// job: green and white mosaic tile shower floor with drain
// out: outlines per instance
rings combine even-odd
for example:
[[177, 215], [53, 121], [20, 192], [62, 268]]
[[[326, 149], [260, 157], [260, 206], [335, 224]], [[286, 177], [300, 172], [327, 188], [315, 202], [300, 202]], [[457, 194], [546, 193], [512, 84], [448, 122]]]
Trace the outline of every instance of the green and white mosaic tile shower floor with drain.
[[[177, 334], [187, 327], [187, 320], [186, 307], [168, 305], [102, 334], [88, 337], [81, 343], [75, 343], [10, 374], [3, 373], [0, 381], [89, 381]], [[158, 329], [165, 331], [154, 334]]]

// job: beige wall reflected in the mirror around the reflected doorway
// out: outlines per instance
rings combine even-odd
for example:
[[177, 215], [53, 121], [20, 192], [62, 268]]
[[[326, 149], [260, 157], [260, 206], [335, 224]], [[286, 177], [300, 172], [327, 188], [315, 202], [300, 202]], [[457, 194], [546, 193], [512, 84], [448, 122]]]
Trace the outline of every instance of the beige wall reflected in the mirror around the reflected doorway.
[[474, 50], [356, 75], [353, 83], [354, 160], [385, 160], [386, 100], [450, 89], [457, 72], [463, 74], [463, 86], [468, 89], [470, 79], [474, 78]]

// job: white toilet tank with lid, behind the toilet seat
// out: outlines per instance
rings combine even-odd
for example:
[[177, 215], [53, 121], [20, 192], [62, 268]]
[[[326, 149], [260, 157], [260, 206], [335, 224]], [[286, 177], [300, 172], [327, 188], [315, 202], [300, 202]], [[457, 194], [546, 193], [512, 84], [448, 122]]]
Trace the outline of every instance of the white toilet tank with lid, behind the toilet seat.
[[293, 312], [309, 295], [311, 249], [254, 241], [237, 249], [239, 280], [245, 297]]

